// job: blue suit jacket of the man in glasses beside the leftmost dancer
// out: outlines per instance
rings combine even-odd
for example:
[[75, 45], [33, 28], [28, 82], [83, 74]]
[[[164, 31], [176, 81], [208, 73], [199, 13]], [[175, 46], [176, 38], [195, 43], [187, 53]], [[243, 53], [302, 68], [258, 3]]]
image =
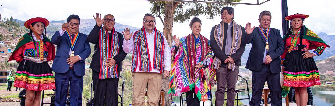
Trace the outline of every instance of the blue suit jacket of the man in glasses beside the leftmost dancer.
[[[85, 75], [85, 59], [91, 54], [91, 47], [87, 42], [87, 35], [79, 33], [78, 40], [74, 46], [74, 55], [80, 56], [82, 60], [73, 64], [74, 72], [77, 76]], [[65, 73], [69, 70], [70, 64], [67, 64], [67, 58], [70, 57], [70, 40], [64, 33], [60, 36], [57, 31], [51, 38], [51, 42], [57, 45], [57, 53], [52, 65], [52, 71], [56, 73]]]

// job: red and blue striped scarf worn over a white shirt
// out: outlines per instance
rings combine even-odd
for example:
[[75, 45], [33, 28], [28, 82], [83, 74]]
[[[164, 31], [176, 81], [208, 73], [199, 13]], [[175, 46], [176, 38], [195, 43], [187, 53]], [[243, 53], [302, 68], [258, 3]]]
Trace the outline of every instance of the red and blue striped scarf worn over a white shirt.
[[[164, 38], [163, 35], [158, 31], [156, 28], [154, 29], [155, 32], [155, 43], [154, 43], [154, 60], [151, 66], [150, 62], [150, 54], [148, 51], [148, 43], [147, 37], [145, 34], [144, 26], [138, 31], [136, 31], [133, 35], [134, 39], [134, 51], [133, 51], [133, 60], [131, 65], [131, 71], [137, 67], [137, 62], [140, 62], [139, 70], [141, 72], [149, 72], [152, 68], [160, 70], [160, 73], [163, 73], [164, 70]], [[141, 59], [138, 60], [138, 56]]]

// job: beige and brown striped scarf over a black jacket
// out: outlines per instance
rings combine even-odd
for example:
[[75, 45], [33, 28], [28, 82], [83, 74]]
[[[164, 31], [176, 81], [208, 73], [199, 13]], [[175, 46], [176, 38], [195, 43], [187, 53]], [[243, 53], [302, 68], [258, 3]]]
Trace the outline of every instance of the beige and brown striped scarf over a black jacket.
[[[233, 37], [232, 37], [232, 45], [231, 45], [231, 51], [230, 51], [229, 56], [236, 53], [236, 51], [240, 48], [240, 45], [241, 45], [241, 34], [242, 34], [241, 30], [242, 29], [241, 29], [240, 25], [236, 24], [236, 22], [234, 20], [232, 20], [232, 24], [233, 24], [233, 26], [232, 26]], [[218, 24], [216, 26], [216, 28], [214, 30], [214, 38], [215, 38], [215, 41], [217, 42], [217, 44], [219, 45], [219, 47], [222, 50], [223, 38], [224, 38], [224, 25], [223, 25], [222, 21], [220, 22], [220, 24]], [[225, 55], [225, 54], [221, 54], [221, 55]], [[212, 67], [215, 68], [215, 69], [219, 69], [220, 65], [221, 65], [221, 60], [215, 56]], [[231, 69], [232, 71], [234, 71], [236, 69], [235, 63], [228, 63], [228, 69]]]

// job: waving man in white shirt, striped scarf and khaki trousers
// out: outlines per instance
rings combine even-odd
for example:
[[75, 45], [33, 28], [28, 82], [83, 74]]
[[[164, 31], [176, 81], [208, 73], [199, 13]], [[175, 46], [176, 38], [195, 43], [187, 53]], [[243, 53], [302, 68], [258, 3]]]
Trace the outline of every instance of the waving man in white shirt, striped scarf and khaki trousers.
[[171, 52], [163, 33], [155, 27], [155, 17], [145, 14], [143, 27], [133, 33], [125, 29], [123, 50], [133, 51], [133, 101], [132, 106], [144, 106], [145, 91], [148, 90], [147, 106], [158, 106], [162, 89], [162, 78], [169, 76]]

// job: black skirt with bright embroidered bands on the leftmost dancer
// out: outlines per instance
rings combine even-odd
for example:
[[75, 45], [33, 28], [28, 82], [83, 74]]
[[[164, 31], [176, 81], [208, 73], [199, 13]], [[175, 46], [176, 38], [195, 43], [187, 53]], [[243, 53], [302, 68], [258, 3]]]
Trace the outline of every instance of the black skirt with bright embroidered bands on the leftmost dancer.
[[14, 87], [34, 91], [55, 89], [55, 78], [48, 62], [36, 63], [23, 59], [16, 71]]

